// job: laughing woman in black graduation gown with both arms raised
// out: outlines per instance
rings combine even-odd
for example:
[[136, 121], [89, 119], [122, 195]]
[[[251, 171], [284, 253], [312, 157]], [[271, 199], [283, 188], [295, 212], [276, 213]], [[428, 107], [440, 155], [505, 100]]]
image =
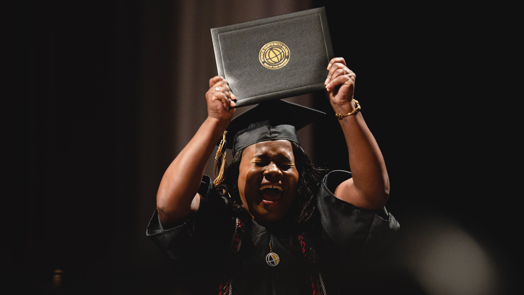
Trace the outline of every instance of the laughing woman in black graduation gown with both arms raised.
[[[147, 230], [194, 292], [337, 294], [350, 261], [383, 248], [397, 231], [384, 207], [384, 159], [353, 99], [355, 74], [343, 58], [327, 69], [326, 96], [352, 174], [333, 171], [318, 186], [300, 127], [255, 118], [235, 134], [224, 182], [204, 176], [236, 100], [222, 77], [210, 80], [208, 118], [162, 177]], [[261, 105], [253, 113], [272, 113], [271, 104]]]

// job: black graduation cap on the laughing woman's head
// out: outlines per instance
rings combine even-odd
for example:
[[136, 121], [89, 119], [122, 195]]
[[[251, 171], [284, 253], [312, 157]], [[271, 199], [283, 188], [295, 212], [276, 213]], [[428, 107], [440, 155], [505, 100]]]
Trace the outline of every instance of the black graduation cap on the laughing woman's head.
[[325, 115], [300, 104], [271, 100], [239, 114], [227, 127], [226, 148], [233, 154], [257, 142], [285, 139], [300, 144], [297, 131]]

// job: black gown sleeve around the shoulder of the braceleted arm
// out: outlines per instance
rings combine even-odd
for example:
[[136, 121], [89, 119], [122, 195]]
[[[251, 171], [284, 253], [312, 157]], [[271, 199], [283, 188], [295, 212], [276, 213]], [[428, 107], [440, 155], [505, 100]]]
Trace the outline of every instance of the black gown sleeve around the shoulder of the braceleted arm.
[[338, 250], [342, 261], [384, 250], [399, 230], [397, 220], [385, 207], [377, 214], [335, 197], [336, 186], [349, 178], [350, 172], [332, 171], [319, 184], [317, 192], [322, 239]]

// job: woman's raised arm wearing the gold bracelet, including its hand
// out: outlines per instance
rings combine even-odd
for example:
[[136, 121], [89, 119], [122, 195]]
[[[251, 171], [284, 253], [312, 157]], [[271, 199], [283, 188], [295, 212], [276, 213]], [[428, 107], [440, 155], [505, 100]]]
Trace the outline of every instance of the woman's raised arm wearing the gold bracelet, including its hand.
[[[341, 57], [333, 58], [328, 70], [326, 96], [333, 110], [343, 115], [352, 112], [356, 108], [355, 73]], [[337, 186], [335, 196], [357, 207], [378, 211], [389, 196], [389, 177], [382, 153], [360, 112], [339, 122], [346, 139], [352, 178]]]

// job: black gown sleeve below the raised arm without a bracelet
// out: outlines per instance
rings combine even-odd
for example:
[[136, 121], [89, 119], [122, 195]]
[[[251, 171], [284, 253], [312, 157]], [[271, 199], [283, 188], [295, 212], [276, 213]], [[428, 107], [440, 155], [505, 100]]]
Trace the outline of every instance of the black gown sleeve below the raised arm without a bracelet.
[[[170, 258], [171, 262], [181, 262], [203, 252], [213, 255], [214, 251], [223, 249], [220, 247], [202, 249], [202, 245], [215, 245], [223, 239], [231, 239], [227, 230], [230, 220], [227, 200], [216, 192], [208, 175], [202, 177], [198, 193], [204, 196], [200, 201], [199, 209], [182, 224], [171, 228], [163, 227], [155, 209], [147, 226], [147, 237]], [[213, 249], [211, 252], [210, 248]]]

